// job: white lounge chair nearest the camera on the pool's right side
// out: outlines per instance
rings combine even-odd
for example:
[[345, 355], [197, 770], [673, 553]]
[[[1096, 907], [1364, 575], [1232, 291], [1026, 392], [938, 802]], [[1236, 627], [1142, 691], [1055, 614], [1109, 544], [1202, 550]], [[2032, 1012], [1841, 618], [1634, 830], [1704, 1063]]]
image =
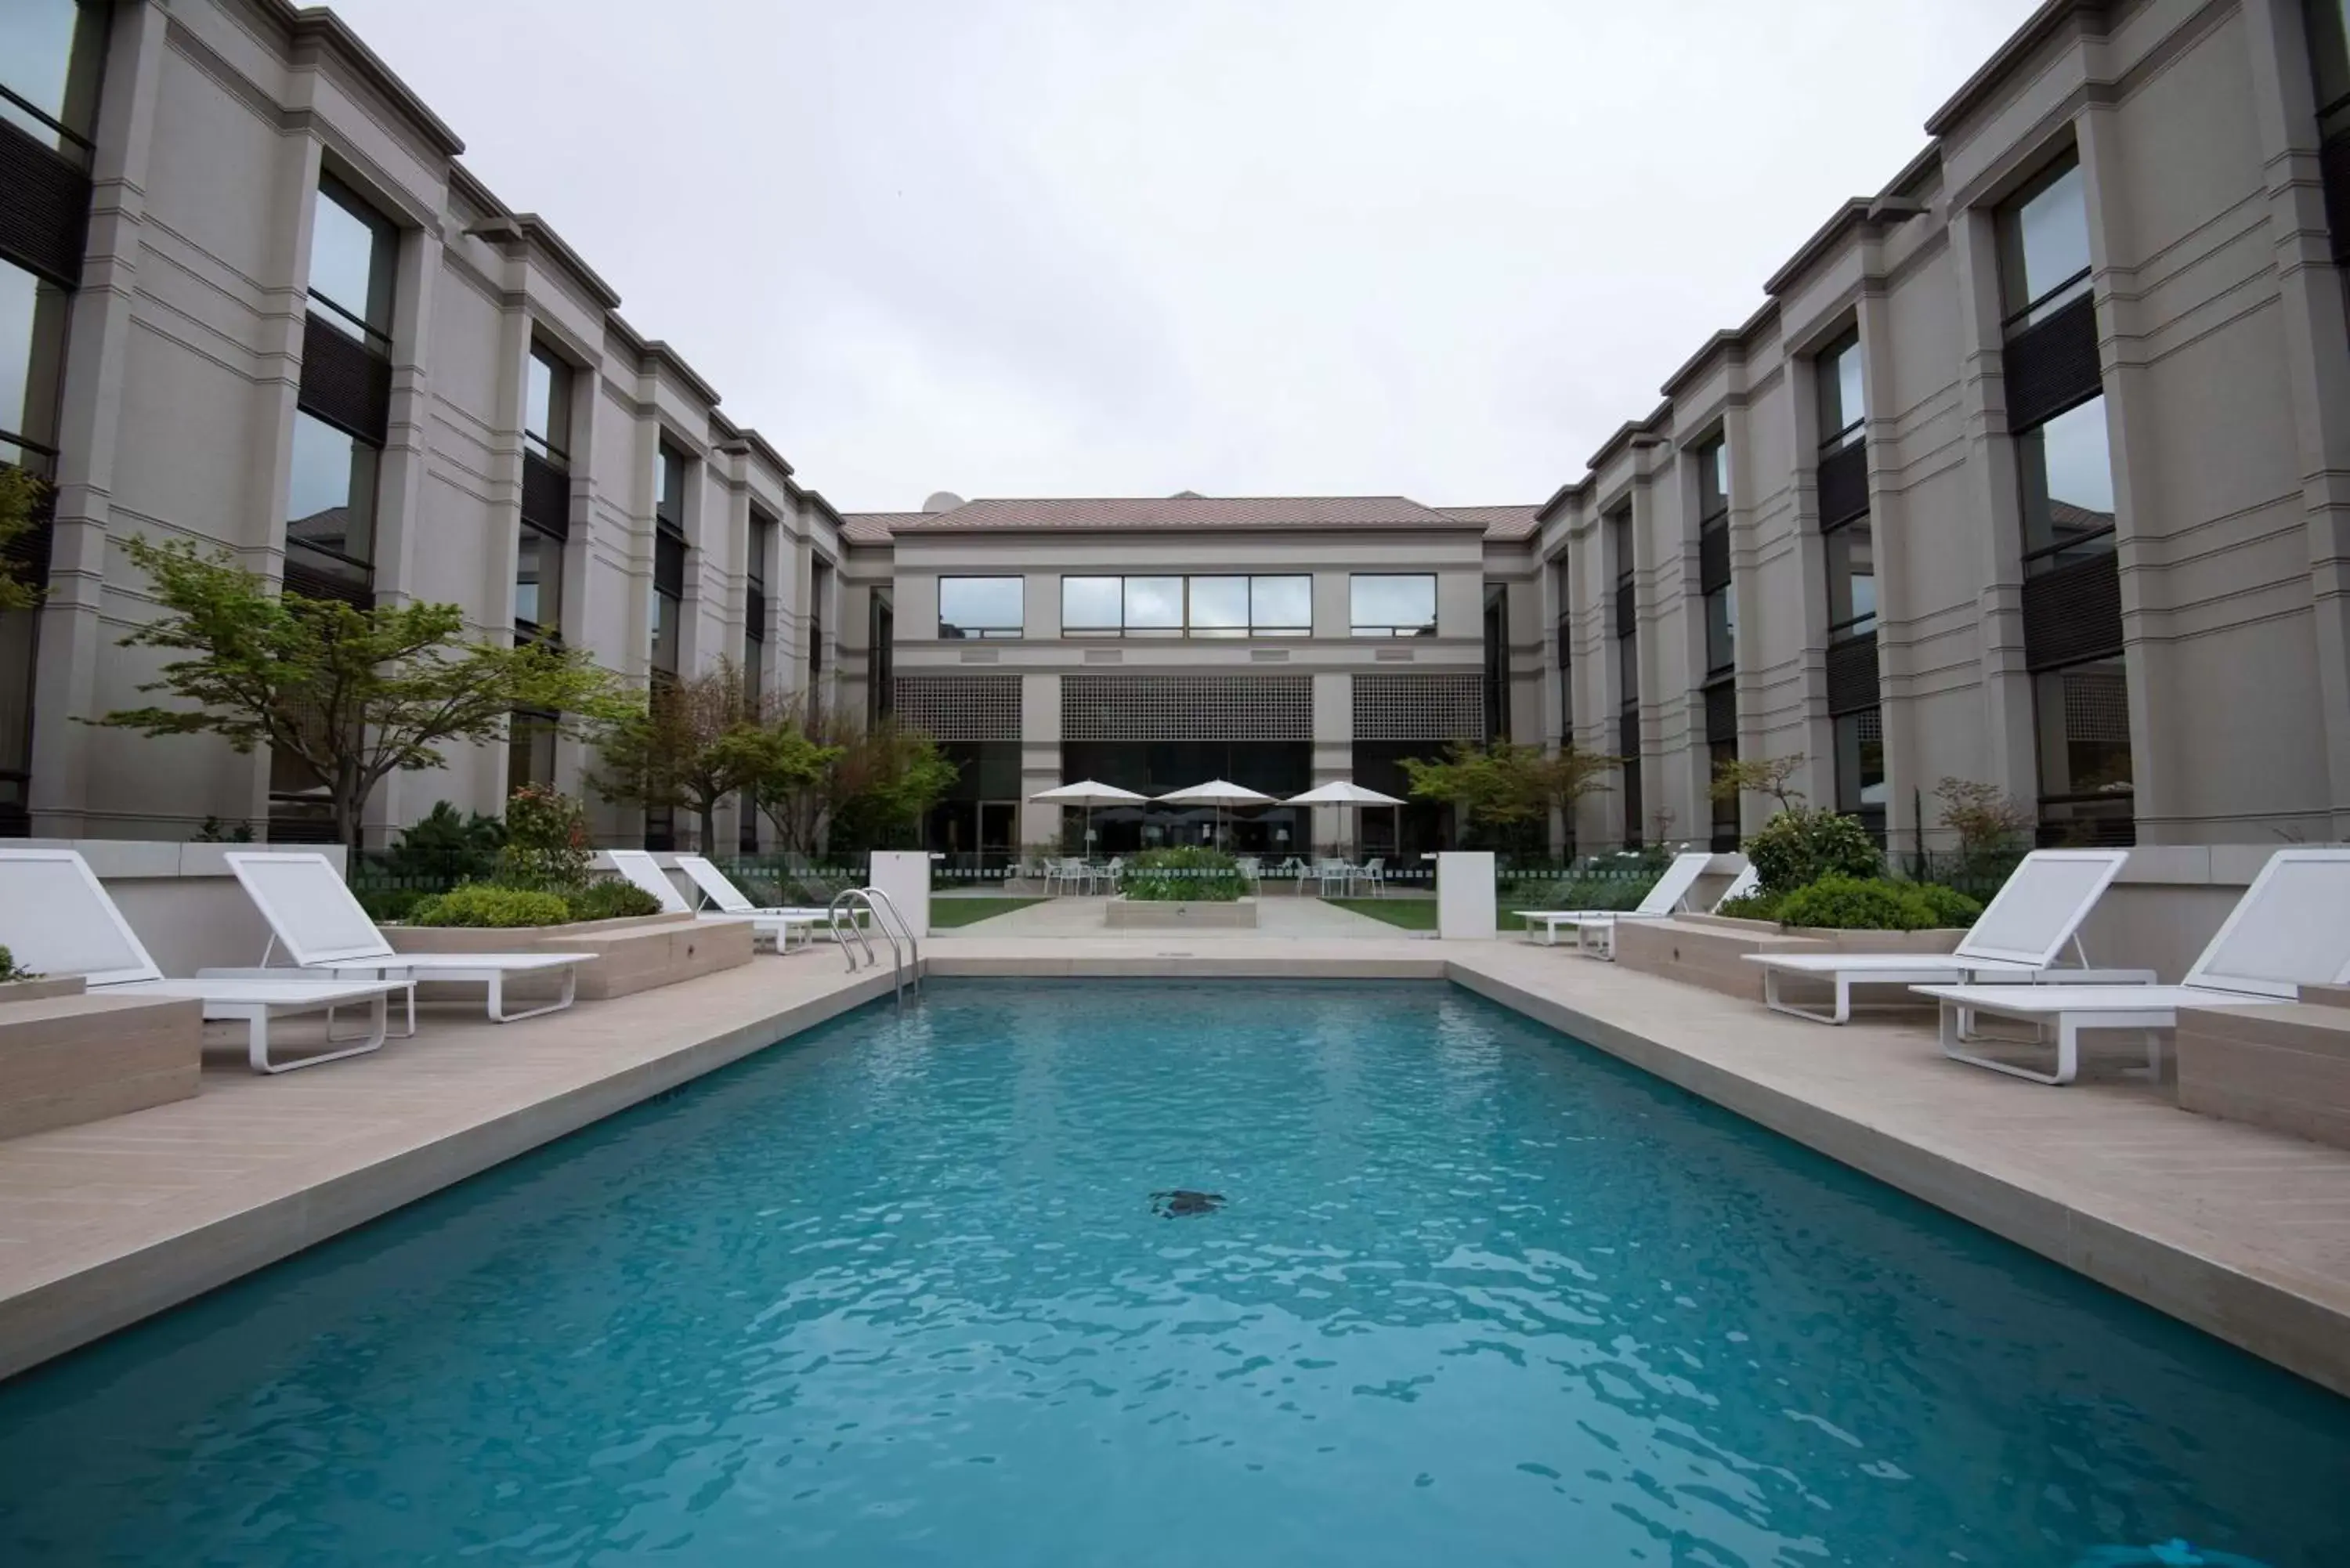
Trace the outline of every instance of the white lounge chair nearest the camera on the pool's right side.
[[[2153, 976], [2148, 976], [2153, 980]], [[2162, 1067], [2162, 1030], [2178, 1009], [2275, 1006], [2303, 985], [2350, 980], [2350, 849], [2280, 849], [2228, 912], [2181, 985], [1918, 985], [1941, 1004], [1941, 1053], [2035, 1084], [2080, 1077], [2082, 1030], [2143, 1030], [2146, 1065]], [[1974, 1016], [2056, 1030], [2056, 1072], [1976, 1056]]]

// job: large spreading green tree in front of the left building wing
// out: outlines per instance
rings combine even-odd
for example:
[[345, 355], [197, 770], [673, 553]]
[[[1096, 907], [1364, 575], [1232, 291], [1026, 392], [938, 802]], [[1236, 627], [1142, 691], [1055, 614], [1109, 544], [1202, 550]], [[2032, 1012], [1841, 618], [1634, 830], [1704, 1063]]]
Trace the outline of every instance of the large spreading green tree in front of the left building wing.
[[573, 733], [632, 708], [578, 649], [468, 639], [456, 604], [355, 609], [270, 592], [226, 550], [143, 538], [125, 550], [164, 614], [122, 646], [181, 654], [139, 686], [176, 705], [122, 708], [96, 722], [146, 736], [212, 733], [240, 752], [266, 745], [291, 757], [327, 790], [336, 832], [352, 849], [378, 783], [446, 766], [446, 745], [503, 741], [515, 708], [559, 712], [557, 724]]

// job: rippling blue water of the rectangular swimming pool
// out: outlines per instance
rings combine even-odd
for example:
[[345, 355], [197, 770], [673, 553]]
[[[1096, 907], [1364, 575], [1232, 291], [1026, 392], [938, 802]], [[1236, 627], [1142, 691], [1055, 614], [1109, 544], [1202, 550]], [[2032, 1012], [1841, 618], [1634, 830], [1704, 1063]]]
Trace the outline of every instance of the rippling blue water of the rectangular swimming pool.
[[12, 1568], [2171, 1537], [2350, 1401], [1441, 985], [938, 985], [0, 1385]]

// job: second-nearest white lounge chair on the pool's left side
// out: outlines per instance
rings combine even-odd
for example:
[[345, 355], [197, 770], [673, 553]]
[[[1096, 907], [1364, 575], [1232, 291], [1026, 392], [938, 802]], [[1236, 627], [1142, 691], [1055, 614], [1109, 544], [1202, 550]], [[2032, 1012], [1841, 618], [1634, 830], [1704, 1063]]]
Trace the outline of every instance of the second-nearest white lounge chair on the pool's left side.
[[[360, 900], [343, 884], [327, 856], [313, 851], [230, 849], [228, 870], [244, 884], [244, 896], [270, 924], [270, 945], [261, 952], [263, 971], [280, 947], [296, 969], [329, 976], [374, 976], [378, 980], [449, 980], [486, 987], [484, 1011], [491, 1023], [519, 1023], [571, 1006], [578, 994], [578, 966], [592, 952], [395, 952], [376, 931]], [[261, 971], [212, 971], [261, 973]], [[562, 973], [564, 990], [555, 1001], [505, 1011], [510, 976]], [[416, 1032], [416, 987], [409, 985], [409, 1034]]]

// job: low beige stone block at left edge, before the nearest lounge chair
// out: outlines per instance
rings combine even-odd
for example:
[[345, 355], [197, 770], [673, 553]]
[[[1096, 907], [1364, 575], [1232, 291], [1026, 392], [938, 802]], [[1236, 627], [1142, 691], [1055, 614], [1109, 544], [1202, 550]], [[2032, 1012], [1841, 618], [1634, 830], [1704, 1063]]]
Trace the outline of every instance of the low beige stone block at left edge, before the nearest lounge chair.
[[0, 1138], [195, 1098], [204, 1006], [179, 997], [0, 1001]]

